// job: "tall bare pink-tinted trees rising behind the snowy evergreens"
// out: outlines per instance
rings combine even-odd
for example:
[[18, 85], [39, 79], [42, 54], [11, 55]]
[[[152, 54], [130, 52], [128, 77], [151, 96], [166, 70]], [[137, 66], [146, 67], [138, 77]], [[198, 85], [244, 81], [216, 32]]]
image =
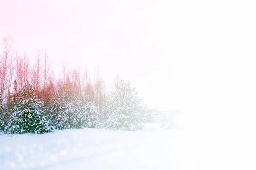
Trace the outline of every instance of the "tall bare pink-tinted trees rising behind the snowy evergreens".
[[[99, 67], [94, 72], [93, 79], [87, 68], [68, 70], [67, 64], [62, 65], [62, 77], [55, 78], [47, 51], [38, 51], [35, 63], [29, 63], [29, 57], [24, 52], [19, 54], [12, 47], [12, 38], [3, 38], [4, 51], [0, 54], [0, 105], [6, 105], [9, 98], [21, 89], [27, 81], [34, 89], [35, 95], [45, 102], [64, 88], [64, 82], [72, 88], [72, 95], [80, 99], [90, 96], [96, 105], [102, 109], [108, 100], [106, 84]], [[30, 66], [32, 65], [32, 66]], [[16, 86], [14, 82], [16, 81]]]

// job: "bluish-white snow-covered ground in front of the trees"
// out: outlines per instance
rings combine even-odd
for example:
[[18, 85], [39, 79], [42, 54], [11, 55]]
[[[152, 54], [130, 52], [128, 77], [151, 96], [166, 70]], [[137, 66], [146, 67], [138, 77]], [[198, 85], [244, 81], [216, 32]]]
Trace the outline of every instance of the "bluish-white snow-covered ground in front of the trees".
[[191, 170], [182, 130], [55, 130], [0, 135], [0, 170]]

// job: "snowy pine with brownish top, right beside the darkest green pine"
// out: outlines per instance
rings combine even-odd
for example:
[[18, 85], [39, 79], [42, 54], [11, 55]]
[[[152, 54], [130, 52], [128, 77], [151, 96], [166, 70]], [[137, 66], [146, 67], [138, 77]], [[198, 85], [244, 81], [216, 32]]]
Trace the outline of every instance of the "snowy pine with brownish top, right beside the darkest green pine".
[[52, 99], [49, 112], [50, 122], [57, 129], [76, 127], [79, 101], [72, 96], [67, 84], [64, 84], [64, 89]]

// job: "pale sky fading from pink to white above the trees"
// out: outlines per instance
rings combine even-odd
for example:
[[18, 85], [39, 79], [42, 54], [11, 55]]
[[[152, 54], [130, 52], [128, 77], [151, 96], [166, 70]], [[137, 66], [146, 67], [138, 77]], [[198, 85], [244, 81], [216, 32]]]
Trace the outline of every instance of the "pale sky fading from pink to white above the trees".
[[118, 72], [146, 104], [188, 113], [189, 122], [243, 111], [255, 94], [253, 1], [0, 2], [0, 37], [10, 34], [31, 61], [47, 49], [57, 76], [64, 61], [91, 73], [99, 65], [109, 87]]

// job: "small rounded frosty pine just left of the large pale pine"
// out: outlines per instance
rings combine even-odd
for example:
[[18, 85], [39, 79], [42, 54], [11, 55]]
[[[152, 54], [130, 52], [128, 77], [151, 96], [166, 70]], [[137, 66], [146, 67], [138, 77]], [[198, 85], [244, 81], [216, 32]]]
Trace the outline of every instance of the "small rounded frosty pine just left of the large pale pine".
[[92, 99], [87, 97], [80, 103], [77, 122], [77, 128], [95, 128], [100, 126], [99, 110]]

